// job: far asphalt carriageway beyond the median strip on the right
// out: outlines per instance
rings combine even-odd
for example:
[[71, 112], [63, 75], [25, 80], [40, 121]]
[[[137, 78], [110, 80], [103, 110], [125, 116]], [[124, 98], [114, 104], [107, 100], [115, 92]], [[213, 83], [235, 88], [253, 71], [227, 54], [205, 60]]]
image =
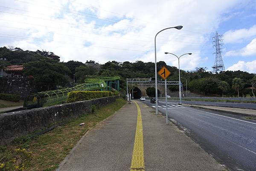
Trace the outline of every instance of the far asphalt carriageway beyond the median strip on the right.
[[[162, 101], [162, 99], [160, 100]], [[163, 100], [164, 101], [164, 100]], [[177, 102], [179, 100], [168, 100], [170, 102]], [[238, 108], [247, 108], [247, 109], [256, 109], [255, 103], [232, 103], [232, 102], [211, 102], [211, 101], [181, 101], [184, 104], [197, 104], [197, 105], [209, 105], [209, 106], [220, 106], [220, 107], [238, 107]]]

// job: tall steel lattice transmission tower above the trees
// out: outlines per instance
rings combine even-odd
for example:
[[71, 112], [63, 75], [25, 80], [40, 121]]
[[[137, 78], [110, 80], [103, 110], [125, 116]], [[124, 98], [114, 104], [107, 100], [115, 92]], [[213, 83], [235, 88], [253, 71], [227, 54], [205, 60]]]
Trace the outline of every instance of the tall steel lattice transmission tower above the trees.
[[225, 67], [222, 61], [222, 57], [221, 57], [221, 48], [220, 46], [223, 46], [223, 39], [222, 38], [223, 35], [218, 35], [218, 32], [216, 32], [216, 35], [212, 38], [212, 43], [213, 43], [213, 47], [215, 46], [215, 52], [213, 54], [215, 54], [215, 62], [214, 62], [214, 66], [213, 68], [213, 73], [218, 73], [221, 71], [225, 71]]

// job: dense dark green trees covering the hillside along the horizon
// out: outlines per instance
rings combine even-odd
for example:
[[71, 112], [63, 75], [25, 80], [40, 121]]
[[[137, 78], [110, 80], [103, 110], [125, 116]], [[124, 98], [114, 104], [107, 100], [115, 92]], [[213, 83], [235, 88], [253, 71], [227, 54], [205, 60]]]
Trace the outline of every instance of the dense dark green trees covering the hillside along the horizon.
[[[76, 83], [84, 83], [85, 75], [111, 75], [120, 76], [120, 90], [126, 91], [126, 78], [153, 78], [153, 62], [117, 62], [108, 61], [99, 65], [95, 61], [87, 60], [86, 63], [80, 61], [60, 62], [59, 57], [52, 58], [53, 52], [46, 50], [23, 51], [20, 48], [8, 49], [0, 48], [0, 58], [7, 61], [0, 61], [0, 69], [8, 65], [24, 65], [24, 75], [34, 79], [35, 88], [38, 91], [56, 90], [57, 88], [73, 87], [73, 80]], [[157, 68], [166, 66], [171, 72], [167, 81], [178, 81], [178, 69], [166, 65], [164, 61], [157, 62]], [[193, 71], [180, 70], [181, 82], [190, 92], [204, 96], [255, 96], [256, 75], [243, 71], [225, 71], [212, 73], [205, 67], [195, 68]], [[158, 75], [157, 75], [158, 76]], [[186, 79], [185, 79], [186, 78]], [[158, 76], [158, 79], [160, 77]], [[136, 85], [134, 85], [136, 87]], [[168, 86], [171, 91], [178, 91], [177, 85]], [[129, 92], [130, 92], [129, 88]], [[151, 92], [151, 90], [149, 90]], [[152, 95], [153, 96], [153, 95]]]

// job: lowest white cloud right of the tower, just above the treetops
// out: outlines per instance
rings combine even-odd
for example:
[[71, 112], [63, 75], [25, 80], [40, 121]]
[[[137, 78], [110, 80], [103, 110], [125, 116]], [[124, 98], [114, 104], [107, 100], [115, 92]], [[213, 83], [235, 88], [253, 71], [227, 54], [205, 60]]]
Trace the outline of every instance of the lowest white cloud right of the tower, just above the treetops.
[[250, 62], [239, 61], [238, 63], [229, 67], [227, 70], [231, 70], [231, 71], [241, 70], [241, 71], [247, 71], [249, 73], [256, 73], [256, 60], [250, 61]]

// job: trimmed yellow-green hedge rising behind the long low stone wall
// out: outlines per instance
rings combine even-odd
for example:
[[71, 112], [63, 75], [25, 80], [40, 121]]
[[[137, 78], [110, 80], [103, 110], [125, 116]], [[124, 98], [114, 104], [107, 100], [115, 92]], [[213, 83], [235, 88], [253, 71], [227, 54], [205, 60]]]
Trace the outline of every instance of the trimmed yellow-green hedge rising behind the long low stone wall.
[[72, 91], [68, 93], [67, 102], [84, 101], [102, 97], [118, 96], [118, 93], [108, 91]]

